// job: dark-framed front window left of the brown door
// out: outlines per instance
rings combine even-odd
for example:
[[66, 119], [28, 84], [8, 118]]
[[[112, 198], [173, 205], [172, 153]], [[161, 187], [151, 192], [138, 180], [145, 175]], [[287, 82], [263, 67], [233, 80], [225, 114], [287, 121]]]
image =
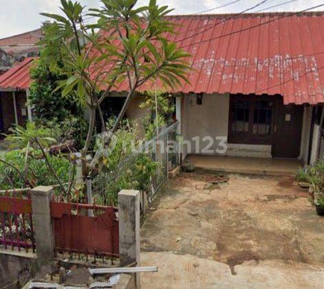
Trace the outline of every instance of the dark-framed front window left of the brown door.
[[246, 144], [270, 144], [272, 99], [265, 96], [230, 96], [228, 141]]

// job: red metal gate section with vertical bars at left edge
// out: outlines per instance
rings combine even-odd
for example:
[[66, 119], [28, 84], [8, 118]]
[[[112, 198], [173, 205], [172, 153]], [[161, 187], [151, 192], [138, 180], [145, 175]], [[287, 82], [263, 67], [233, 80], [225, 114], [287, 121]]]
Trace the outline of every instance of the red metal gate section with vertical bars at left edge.
[[0, 195], [0, 244], [5, 249], [35, 251], [32, 200], [29, 190], [10, 190]]

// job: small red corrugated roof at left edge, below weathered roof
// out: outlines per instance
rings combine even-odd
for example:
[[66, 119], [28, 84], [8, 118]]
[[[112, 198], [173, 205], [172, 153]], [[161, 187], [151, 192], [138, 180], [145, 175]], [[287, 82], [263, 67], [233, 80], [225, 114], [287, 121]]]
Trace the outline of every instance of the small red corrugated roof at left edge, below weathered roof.
[[28, 89], [32, 80], [30, 79], [30, 66], [34, 57], [25, 58], [24, 61], [12, 67], [8, 72], [0, 76], [0, 89]]

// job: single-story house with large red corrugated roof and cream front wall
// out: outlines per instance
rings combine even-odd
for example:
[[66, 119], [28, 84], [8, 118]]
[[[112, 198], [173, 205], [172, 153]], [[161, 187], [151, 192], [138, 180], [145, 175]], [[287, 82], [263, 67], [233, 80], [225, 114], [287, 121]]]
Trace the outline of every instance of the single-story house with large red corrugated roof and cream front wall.
[[[223, 142], [224, 156], [303, 164], [323, 156], [324, 12], [169, 19], [177, 24], [172, 40], [192, 55], [191, 84], [173, 92], [186, 142], [182, 160], [188, 153], [217, 155]], [[125, 96], [125, 87], [117, 87], [116, 96]], [[140, 119], [138, 103], [134, 98], [128, 114]], [[206, 147], [210, 138], [217, 142]]]

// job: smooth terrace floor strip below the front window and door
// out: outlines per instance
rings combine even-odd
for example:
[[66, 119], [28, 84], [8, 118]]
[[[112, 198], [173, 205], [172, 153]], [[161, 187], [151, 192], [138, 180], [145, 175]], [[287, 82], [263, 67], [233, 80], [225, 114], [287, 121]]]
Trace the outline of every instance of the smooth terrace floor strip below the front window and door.
[[274, 158], [241, 158], [229, 156], [189, 155], [186, 162], [199, 169], [224, 171], [227, 173], [248, 173], [255, 175], [294, 176], [302, 167], [299, 160]]

